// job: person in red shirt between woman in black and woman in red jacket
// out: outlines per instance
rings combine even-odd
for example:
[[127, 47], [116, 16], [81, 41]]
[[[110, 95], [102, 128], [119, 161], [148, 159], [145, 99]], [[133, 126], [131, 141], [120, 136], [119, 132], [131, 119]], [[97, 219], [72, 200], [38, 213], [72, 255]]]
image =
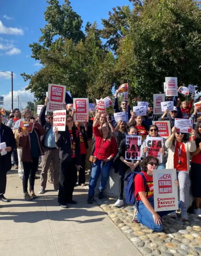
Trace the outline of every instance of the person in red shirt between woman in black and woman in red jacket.
[[82, 166], [82, 168], [79, 169], [78, 185], [85, 186], [85, 162], [86, 162], [87, 149], [89, 148], [89, 145], [87, 142], [87, 134], [86, 134], [87, 126], [86, 126], [86, 122], [85, 123], [75, 122], [75, 126], [79, 131], [81, 166]]

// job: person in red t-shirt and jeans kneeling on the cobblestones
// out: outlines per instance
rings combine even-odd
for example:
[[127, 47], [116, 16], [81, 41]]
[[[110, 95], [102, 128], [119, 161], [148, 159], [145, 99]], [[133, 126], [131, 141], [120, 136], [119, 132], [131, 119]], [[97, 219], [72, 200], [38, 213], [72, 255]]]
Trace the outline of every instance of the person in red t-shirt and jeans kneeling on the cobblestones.
[[[136, 208], [138, 210], [137, 216], [139, 223], [148, 226], [155, 232], [163, 230], [163, 224], [161, 218], [164, 215], [169, 214], [171, 211], [154, 211], [154, 200], [153, 200], [153, 171], [159, 165], [159, 160], [153, 156], [147, 156], [143, 158], [140, 163], [141, 173], [135, 176], [135, 197], [136, 197]], [[144, 179], [146, 180], [146, 186], [144, 187]], [[179, 186], [178, 180], [175, 184]], [[134, 217], [135, 221], [136, 216]]]

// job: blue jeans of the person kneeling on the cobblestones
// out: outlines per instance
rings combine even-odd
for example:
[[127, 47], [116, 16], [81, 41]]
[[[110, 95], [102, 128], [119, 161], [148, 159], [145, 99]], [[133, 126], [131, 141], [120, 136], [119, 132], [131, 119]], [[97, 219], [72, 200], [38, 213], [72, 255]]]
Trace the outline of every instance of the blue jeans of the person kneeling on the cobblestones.
[[[148, 198], [149, 203], [154, 209], [154, 201], [153, 197]], [[155, 232], [160, 232], [163, 230], [163, 224], [157, 225], [154, 223], [153, 215], [152, 213], [149, 212], [149, 210], [146, 208], [146, 206], [143, 204], [142, 201], [138, 201], [138, 221], [143, 224], [148, 226], [148, 228], [152, 229]], [[179, 201], [179, 208], [181, 208], [181, 202]], [[162, 212], [157, 212], [159, 216], [162, 218], [163, 216], [172, 213], [174, 211], [162, 211]]]

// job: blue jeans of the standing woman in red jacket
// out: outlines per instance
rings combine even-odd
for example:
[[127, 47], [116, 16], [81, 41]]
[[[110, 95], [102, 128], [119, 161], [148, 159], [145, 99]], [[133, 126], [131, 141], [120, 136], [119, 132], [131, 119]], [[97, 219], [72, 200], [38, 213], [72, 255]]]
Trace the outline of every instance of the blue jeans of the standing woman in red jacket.
[[100, 174], [101, 174], [101, 181], [100, 181], [99, 190], [103, 191], [106, 188], [112, 163], [113, 163], [113, 160], [110, 160], [106, 163], [106, 165], [103, 166], [103, 161], [98, 159], [96, 160], [95, 164], [92, 163], [89, 194], [88, 194], [89, 196], [92, 196], [92, 197], [94, 196], [94, 193], [95, 193], [94, 190]]

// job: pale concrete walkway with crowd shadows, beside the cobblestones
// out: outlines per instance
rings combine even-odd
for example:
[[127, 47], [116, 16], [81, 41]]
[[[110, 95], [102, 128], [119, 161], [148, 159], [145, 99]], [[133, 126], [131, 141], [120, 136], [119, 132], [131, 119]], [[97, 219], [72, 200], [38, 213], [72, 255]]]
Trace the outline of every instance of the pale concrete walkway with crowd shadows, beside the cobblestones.
[[[37, 195], [39, 188], [37, 179]], [[68, 209], [58, 206], [52, 184], [47, 190], [27, 202], [17, 171], [8, 172], [5, 197], [11, 203], [0, 201], [0, 256], [141, 256], [96, 203], [86, 203], [84, 188], [75, 188], [78, 204]]]

